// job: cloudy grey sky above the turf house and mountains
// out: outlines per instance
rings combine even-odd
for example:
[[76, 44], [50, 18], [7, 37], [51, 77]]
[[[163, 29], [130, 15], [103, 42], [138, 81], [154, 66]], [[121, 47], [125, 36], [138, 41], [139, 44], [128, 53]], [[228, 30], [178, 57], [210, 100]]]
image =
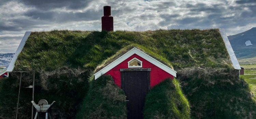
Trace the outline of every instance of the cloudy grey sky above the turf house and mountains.
[[105, 5], [114, 30], [256, 27], [256, 0], [0, 0], [0, 53], [15, 52], [26, 31], [101, 30]]

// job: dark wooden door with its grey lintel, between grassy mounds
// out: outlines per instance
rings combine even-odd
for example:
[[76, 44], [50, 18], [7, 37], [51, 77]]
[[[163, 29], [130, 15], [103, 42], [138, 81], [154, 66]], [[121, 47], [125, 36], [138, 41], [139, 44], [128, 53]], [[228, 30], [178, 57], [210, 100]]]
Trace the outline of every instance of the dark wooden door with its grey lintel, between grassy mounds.
[[142, 119], [146, 94], [150, 89], [151, 69], [120, 69], [122, 89], [127, 100], [127, 119]]

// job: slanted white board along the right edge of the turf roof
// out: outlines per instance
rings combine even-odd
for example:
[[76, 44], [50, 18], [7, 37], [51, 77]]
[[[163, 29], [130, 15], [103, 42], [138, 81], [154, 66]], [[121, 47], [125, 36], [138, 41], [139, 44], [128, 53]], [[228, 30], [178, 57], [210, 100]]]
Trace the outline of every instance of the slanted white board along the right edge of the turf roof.
[[224, 29], [219, 29], [219, 32], [221, 33], [222, 39], [223, 39], [223, 41], [225, 43], [226, 49], [228, 51], [228, 54], [230, 56], [230, 59], [232, 61], [234, 69], [241, 70], [241, 67], [240, 67], [240, 65], [239, 65], [239, 63], [237, 61], [237, 57], [234, 54], [234, 51], [233, 51], [232, 46], [231, 46], [231, 44], [230, 44], [230, 42], [228, 40], [228, 37], [226, 35], [225, 30]]

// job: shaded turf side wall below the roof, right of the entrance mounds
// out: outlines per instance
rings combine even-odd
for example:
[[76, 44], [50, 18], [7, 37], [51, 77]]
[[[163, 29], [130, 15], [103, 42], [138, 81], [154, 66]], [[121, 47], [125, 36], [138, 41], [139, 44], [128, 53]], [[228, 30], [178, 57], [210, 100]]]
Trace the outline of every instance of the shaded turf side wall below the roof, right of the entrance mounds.
[[199, 119], [254, 119], [256, 103], [238, 71], [228, 68], [185, 68], [178, 71], [191, 116]]

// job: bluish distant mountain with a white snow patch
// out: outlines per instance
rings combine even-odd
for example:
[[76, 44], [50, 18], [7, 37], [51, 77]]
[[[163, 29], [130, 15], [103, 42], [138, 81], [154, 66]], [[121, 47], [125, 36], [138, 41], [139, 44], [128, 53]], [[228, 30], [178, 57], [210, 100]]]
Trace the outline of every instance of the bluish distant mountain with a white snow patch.
[[256, 27], [228, 39], [238, 59], [256, 56]]

